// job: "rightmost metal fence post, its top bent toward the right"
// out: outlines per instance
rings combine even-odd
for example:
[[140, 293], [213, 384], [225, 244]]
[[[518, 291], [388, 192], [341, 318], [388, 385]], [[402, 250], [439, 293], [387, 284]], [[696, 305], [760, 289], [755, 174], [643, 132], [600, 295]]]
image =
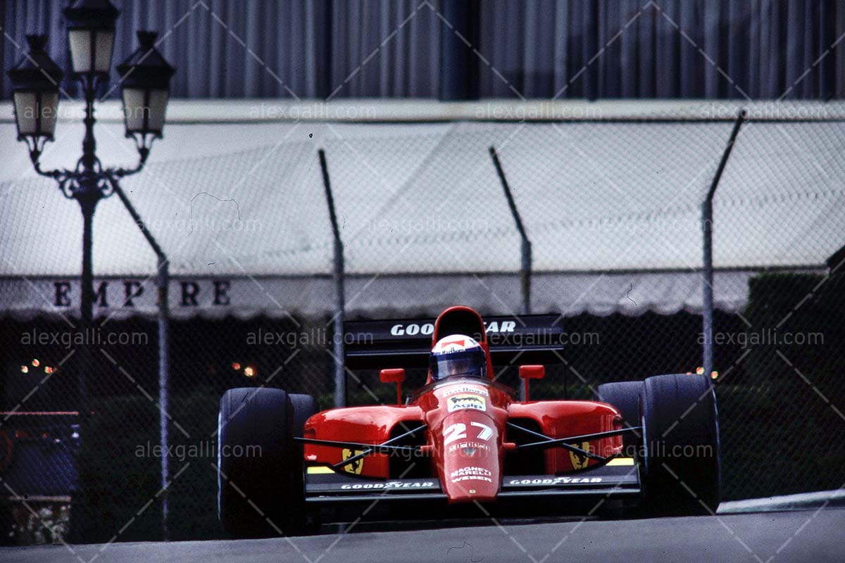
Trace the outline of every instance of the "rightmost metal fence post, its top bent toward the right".
[[733, 130], [731, 131], [731, 137], [728, 139], [728, 146], [725, 147], [722, 153], [722, 160], [719, 161], [716, 174], [713, 176], [713, 181], [710, 184], [710, 189], [707, 190], [707, 195], [704, 201], [701, 202], [701, 230], [704, 252], [704, 270], [702, 272], [701, 284], [701, 291], [703, 293], [701, 319], [704, 337], [702, 365], [706, 376], [710, 376], [713, 371], [713, 197], [716, 195], [716, 188], [719, 186], [719, 180], [722, 179], [722, 172], [725, 170], [725, 165], [728, 164], [728, 157], [733, 150], [733, 143], [736, 141], [737, 135], [739, 134], [739, 127], [742, 127], [744, 120], [745, 110], [740, 109], [736, 121], [733, 122]]

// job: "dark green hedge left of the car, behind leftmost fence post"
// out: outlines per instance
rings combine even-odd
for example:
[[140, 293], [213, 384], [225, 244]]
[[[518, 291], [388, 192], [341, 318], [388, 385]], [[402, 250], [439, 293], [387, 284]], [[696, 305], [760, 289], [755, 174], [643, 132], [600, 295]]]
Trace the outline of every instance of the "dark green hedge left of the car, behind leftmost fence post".
[[[219, 400], [216, 391], [203, 388], [171, 400], [170, 473], [176, 476], [168, 490], [171, 539], [221, 537], [211, 436]], [[144, 397], [102, 399], [94, 409], [82, 430], [71, 540], [109, 541], [130, 520], [118, 540], [161, 539], [161, 456], [153, 449], [159, 443], [159, 409]]]

